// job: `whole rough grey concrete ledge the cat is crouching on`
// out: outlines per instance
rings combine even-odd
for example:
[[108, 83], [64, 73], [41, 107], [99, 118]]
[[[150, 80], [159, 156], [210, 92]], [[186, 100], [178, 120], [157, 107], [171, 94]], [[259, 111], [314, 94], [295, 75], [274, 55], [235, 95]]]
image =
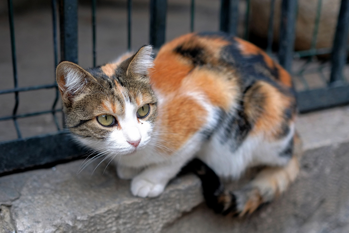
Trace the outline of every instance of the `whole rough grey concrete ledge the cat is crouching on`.
[[306, 148], [300, 176], [252, 216], [212, 213], [194, 176], [175, 179], [160, 198], [141, 199], [113, 167], [76, 175], [82, 161], [74, 161], [1, 177], [0, 233], [347, 233], [349, 107], [302, 115], [297, 127]]

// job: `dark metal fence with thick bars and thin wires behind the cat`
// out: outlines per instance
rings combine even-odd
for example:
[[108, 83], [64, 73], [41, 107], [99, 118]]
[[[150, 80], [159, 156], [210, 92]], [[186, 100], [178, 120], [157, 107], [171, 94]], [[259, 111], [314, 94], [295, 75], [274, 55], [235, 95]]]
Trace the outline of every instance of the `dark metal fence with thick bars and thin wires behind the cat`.
[[[189, 1], [189, 0], [188, 0]], [[275, 0], [270, 0], [270, 17], [266, 51], [272, 53], [273, 42], [273, 23]], [[343, 69], [347, 61], [347, 46], [349, 32], [349, 0], [342, 0], [341, 9], [338, 18], [338, 25], [333, 48], [316, 49], [315, 42], [321, 13], [321, 1], [318, 0], [317, 17], [315, 21], [315, 29], [313, 32], [313, 43], [311, 49], [307, 51], [294, 52], [295, 39], [295, 22], [297, 15], [297, 0], [282, 0], [281, 9], [281, 25], [280, 40], [277, 58], [281, 65], [288, 71], [291, 71], [292, 61], [294, 57], [307, 57], [306, 64], [310, 63], [315, 55], [329, 53], [332, 51], [332, 69], [330, 78], [324, 78], [324, 87], [310, 89], [306, 80], [303, 78], [301, 69], [298, 73], [294, 73], [294, 77], [301, 79], [305, 83], [305, 88], [297, 92], [298, 106], [300, 112], [306, 112], [341, 104], [349, 103], [349, 84], [343, 78]], [[220, 30], [226, 31], [232, 35], [237, 34], [239, 0], [221, 0], [220, 8]], [[245, 33], [248, 36], [248, 18], [250, 0], [246, 0], [247, 10], [245, 13]], [[60, 25], [60, 54], [58, 59], [57, 45], [57, 28], [56, 28], [56, 11], [59, 7], [59, 25]], [[77, 0], [52, 0], [52, 25], [53, 25], [53, 50], [55, 66], [58, 60], [68, 60], [78, 63], [78, 2]], [[96, 0], [91, 0], [92, 8], [92, 35], [93, 35], [93, 65], [96, 65]], [[132, 0], [127, 2], [128, 8], [128, 47], [131, 48], [131, 23], [132, 23]], [[194, 30], [194, 12], [195, 1], [190, 0], [190, 29]], [[0, 117], [0, 121], [13, 121], [17, 133], [17, 139], [11, 141], [0, 142], [0, 174], [6, 174], [18, 169], [26, 169], [30, 167], [57, 163], [59, 161], [79, 158], [85, 153], [84, 150], [75, 145], [67, 132], [59, 125], [56, 113], [61, 109], [57, 106], [59, 93], [57, 85], [52, 78], [52, 84], [38, 85], [29, 87], [18, 87], [17, 68], [16, 68], [16, 51], [15, 51], [15, 35], [13, 26], [13, 7], [12, 0], [8, 0], [8, 15], [11, 36], [11, 52], [13, 66], [14, 88], [0, 90], [0, 94], [14, 93], [15, 104], [13, 106], [12, 115]], [[159, 48], [165, 42], [166, 18], [167, 18], [167, 0], [150, 0], [150, 44]], [[126, 50], [126, 49], [125, 49]], [[320, 70], [321, 71], [321, 70]], [[54, 76], [54, 75], [52, 75]], [[19, 104], [18, 93], [25, 91], [35, 91], [40, 89], [55, 89], [55, 99], [52, 108], [46, 111], [31, 112], [26, 114], [17, 114]], [[36, 116], [42, 114], [52, 114], [56, 124], [57, 132], [45, 135], [38, 135], [30, 138], [22, 138], [21, 130], [17, 123], [18, 118]]]

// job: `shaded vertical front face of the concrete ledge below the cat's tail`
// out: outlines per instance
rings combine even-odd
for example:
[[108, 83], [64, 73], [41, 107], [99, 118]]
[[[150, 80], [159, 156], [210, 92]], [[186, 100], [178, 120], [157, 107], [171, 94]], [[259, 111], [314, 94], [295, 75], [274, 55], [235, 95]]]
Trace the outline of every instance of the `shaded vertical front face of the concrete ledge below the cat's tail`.
[[219, 216], [200, 205], [164, 233], [348, 233], [349, 143], [306, 152], [290, 189], [251, 216]]

